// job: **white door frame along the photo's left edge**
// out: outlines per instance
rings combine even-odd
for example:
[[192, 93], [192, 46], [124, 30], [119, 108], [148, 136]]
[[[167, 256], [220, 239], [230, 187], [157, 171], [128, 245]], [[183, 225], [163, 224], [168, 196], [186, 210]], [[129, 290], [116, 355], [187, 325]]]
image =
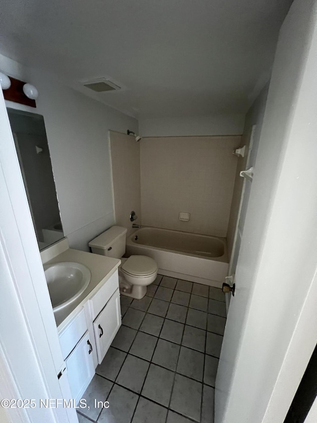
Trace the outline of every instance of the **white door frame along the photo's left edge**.
[[67, 398], [69, 385], [67, 380], [60, 383], [57, 378], [58, 372], [64, 368], [64, 361], [12, 131], [0, 91], [1, 285], [3, 283], [0, 296], [0, 351], [3, 355], [0, 366], [5, 381], [0, 384], [0, 393], [2, 398], [14, 395], [12, 399], [36, 400], [36, 408], [18, 412], [17, 409], [5, 409], [6, 417], [12, 422], [78, 422], [74, 409], [39, 406], [40, 399]]

